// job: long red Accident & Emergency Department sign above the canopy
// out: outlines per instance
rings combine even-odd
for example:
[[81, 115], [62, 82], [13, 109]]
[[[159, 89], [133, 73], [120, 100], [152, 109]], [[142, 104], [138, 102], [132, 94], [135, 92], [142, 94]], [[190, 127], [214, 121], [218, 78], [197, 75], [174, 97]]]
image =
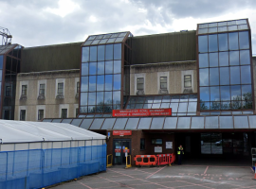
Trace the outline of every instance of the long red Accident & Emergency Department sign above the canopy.
[[130, 110], [113, 110], [113, 117], [130, 117], [130, 116], [166, 116], [172, 115], [172, 109], [130, 109]]

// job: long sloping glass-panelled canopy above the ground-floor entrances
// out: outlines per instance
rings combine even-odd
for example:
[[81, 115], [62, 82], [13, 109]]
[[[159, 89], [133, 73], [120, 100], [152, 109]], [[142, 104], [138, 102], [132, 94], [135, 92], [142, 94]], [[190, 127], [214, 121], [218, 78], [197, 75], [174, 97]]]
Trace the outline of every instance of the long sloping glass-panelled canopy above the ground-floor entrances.
[[83, 129], [256, 129], [256, 115], [45, 119]]

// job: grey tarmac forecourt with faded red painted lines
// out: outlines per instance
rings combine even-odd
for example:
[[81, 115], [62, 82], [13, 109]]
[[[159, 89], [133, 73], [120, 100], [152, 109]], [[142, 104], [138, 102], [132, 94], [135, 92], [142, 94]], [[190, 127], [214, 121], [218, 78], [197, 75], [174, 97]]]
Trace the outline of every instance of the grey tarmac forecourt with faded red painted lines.
[[239, 189], [256, 188], [251, 166], [182, 164], [160, 167], [107, 168], [106, 172], [63, 182], [54, 189]]

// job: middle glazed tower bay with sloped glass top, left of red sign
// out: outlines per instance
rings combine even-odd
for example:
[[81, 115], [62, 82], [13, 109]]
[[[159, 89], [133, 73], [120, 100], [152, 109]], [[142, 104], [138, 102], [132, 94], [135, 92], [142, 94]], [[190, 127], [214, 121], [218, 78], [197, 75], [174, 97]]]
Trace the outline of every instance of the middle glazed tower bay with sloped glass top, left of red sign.
[[90, 36], [83, 44], [89, 46], [82, 46], [80, 113], [121, 109], [122, 41], [126, 34]]

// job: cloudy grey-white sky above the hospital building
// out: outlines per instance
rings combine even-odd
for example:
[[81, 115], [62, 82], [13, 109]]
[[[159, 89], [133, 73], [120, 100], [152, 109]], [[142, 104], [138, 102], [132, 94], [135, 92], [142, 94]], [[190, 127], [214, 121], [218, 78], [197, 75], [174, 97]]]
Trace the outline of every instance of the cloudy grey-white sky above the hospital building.
[[88, 35], [135, 36], [248, 18], [256, 55], [255, 0], [0, 0], [0, 26], [25, 47], [82, 42]]

